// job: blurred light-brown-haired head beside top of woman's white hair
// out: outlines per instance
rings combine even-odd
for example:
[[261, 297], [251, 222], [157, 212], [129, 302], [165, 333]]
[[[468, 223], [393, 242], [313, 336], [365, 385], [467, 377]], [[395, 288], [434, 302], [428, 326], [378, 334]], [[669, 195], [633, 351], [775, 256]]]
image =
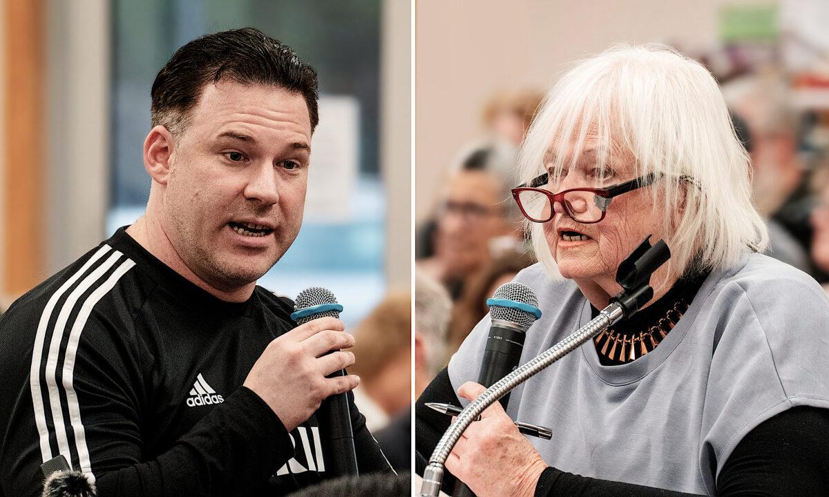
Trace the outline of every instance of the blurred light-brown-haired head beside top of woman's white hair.
[[485, 131], [493, 139], [502, 139], [519, 147], [526, 130], [536, 117], [544, 92], [535, 89], [502, 90], [493, 94], [483, 107]]

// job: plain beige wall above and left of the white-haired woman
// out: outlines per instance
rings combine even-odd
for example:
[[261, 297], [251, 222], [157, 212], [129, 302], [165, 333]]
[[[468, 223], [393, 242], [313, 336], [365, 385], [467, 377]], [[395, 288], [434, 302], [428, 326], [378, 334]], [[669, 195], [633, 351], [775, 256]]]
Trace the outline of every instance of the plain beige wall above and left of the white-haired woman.
[[613, 42], [701, 51], [717, 41], [722, 5], [774, 0], [418, 0], [415, 216], [434, 205], [446, 167], [480, 133], [499, 89], [547, 89], [563, 64]]

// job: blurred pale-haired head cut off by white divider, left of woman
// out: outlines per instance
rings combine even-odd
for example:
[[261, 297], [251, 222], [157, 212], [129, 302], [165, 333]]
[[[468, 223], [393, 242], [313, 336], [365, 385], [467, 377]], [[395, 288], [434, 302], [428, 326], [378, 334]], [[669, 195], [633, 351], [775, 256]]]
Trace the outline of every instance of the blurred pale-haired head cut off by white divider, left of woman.
[[[414, 271], [414, 398], [448, 362], [446, 331], [452, 301], [428, 274]], [[451, 354], [454, 350], [448, 350]]]

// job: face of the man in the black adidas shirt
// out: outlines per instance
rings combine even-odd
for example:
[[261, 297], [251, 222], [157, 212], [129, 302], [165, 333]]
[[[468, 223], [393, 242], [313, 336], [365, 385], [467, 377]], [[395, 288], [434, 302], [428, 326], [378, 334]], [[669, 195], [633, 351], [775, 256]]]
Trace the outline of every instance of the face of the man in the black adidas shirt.
[[172, 145], [163, 194], [167, 237], [193, 273], [232, 289], [282, 257], [302, 224], [310, 145], [301, 94], [206, 86]]

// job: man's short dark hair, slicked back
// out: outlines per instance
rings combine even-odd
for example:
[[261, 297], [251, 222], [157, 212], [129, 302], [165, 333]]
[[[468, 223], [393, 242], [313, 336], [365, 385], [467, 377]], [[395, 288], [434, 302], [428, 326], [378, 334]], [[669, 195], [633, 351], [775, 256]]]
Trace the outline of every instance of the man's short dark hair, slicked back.
[[201, 36], [178, 49], [153, 82], [150, 123], [182, 132], [206, 85], [221, 80], [302, 94], [311, 131], [317, 127], [317, 72], [290, 47], [252, 27]]

